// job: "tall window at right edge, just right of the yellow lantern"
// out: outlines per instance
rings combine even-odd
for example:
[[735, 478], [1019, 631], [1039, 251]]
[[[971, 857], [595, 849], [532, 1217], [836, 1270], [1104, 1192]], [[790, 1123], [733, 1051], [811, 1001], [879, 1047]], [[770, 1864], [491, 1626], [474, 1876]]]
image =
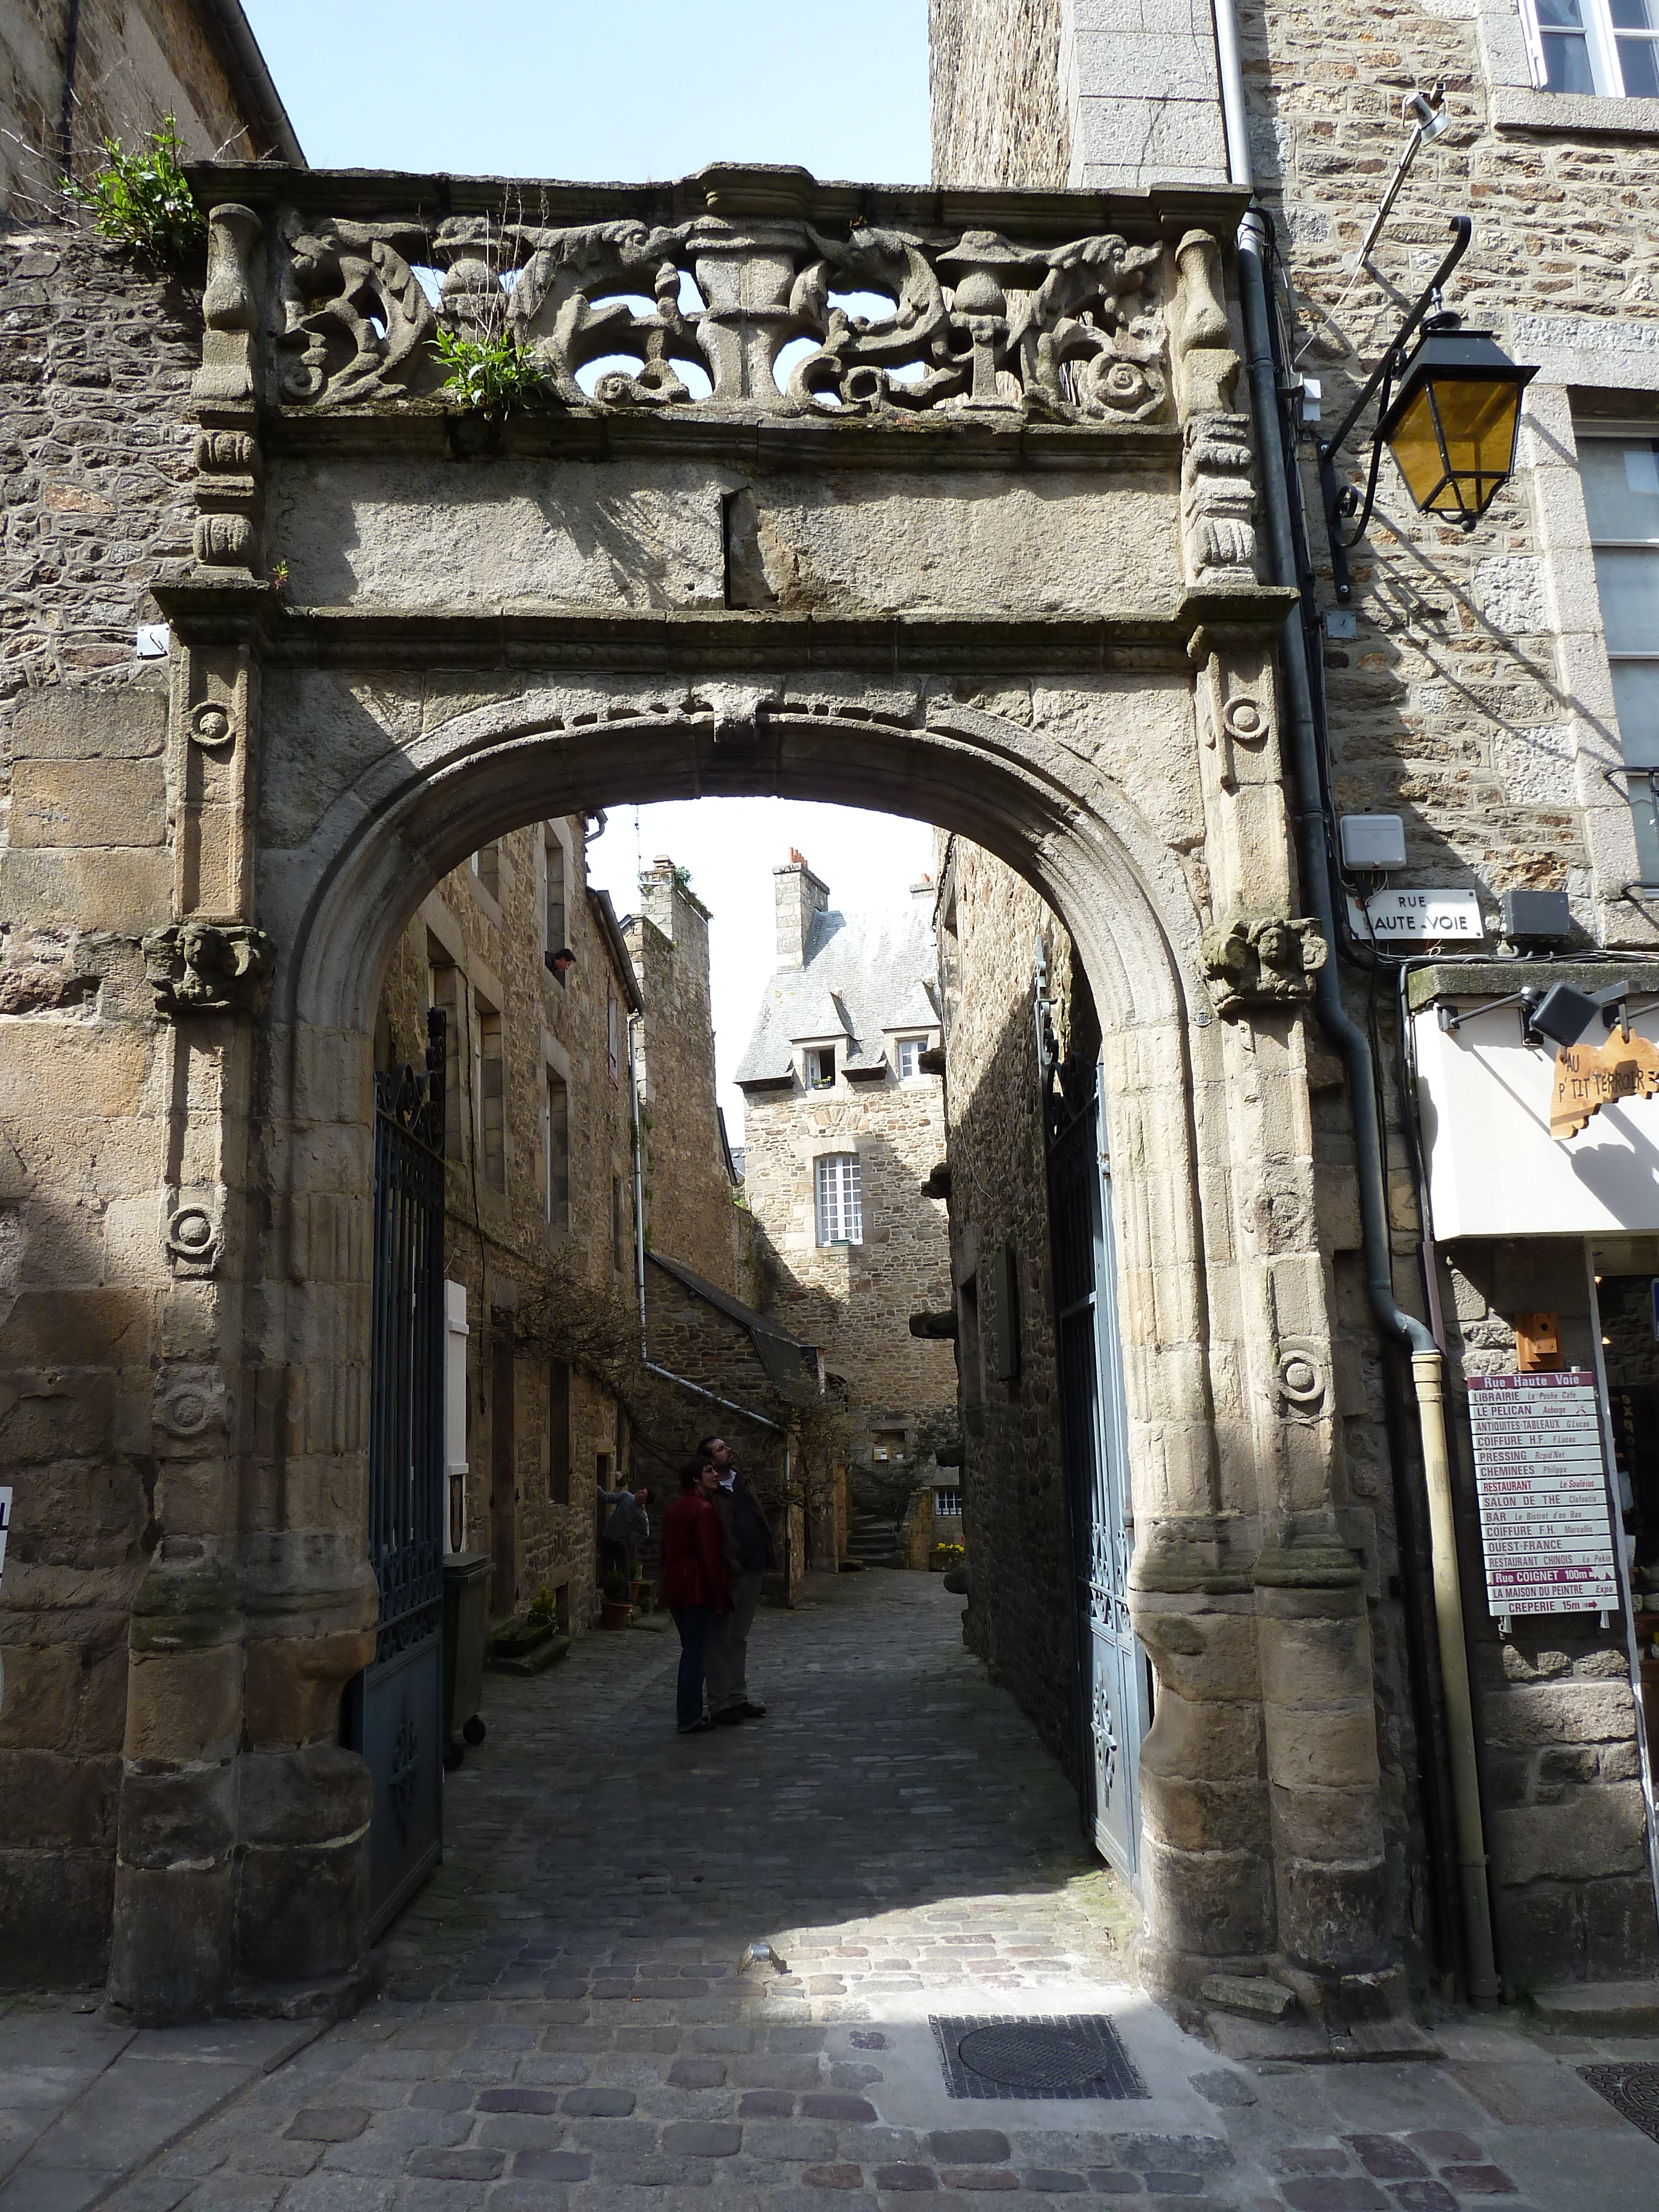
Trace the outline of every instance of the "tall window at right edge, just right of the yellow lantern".
[[[1644, 436], [1577, 422], [1575, 436], [1624, 765], [1659, 772], [1659, 425]], [[1659, 883], [1655, 779], [1624, 781], [1641, 880]]]

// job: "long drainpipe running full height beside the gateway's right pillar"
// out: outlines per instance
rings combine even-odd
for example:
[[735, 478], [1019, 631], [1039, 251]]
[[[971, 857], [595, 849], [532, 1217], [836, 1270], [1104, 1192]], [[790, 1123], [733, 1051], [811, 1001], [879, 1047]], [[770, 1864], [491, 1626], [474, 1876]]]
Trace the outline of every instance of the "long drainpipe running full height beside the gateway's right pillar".
[[[1228, 139], [1228, 170], [1234, 184], [1254, 186], [1250, 139], [1245, 131], [1243, 71], [1239, 66], [1239, 20], [1232, 0], [1214, 0], [1217, 62], [1221, 73], [1221, 115]], [[1274, 580], [1298, 586], [1292, 538], [1290, 493], [1285, 489], [1285, 449], [1279, 411], [1279, 385], [1272, 361], [1270, 301], [1265, 257], [1265, 217], [1254, 204], [1239, 223], [1239, 294], [1250, 356], [1250, 400], [1261, 440], [1261, 476], [1272, 540]], [[1285, 677], [1285, 723], [1296, 770], [1296, 830], [1303, 856], [1303, 889], [1312, 900], [1325, 942], [1336, 945], [1336, 909], [1325, 832], [1325, 807], [1318, 783], [1318, 739], [1314, 732], [1314, 697], [1307, 672], [1307, 648], [1301, 611], [1283, 630], [1281, 668]], [[1480, 1767], [1475, 1759], [1475, 1723], [1469, 1688], [1469, 1648], [1462, 1621], [1462, 1579], [1458, 1573], [1458, 1531], [1451, 1506], [1451, 1455], [1447, 1451], [1444, 1356], [1429, 1329], [1407, 1314], [1394, 1296], [1394, 1252], [1389, 1241], [1387, 1192], [1383, 1186], [1383, 1133], [1376, 1117], [1376, 1075], [1371, 1046], [1360, 1024], [1343, 1004], [1336, 962], [1327, 960], [1314, 975], [1314, 1013], [1318, 1026], [1347, 1062], [1349, 1104], [1354, 1113], [1354, 1168], [1360, 1186], [1360, 1232], [1365, 1248], [1365, 1287], [1378, 1327], [1400, 1338], [1411, 1352], [1411, 1380], [1418, 1398], [1422, 1438], [1422, 1475], [1429, 1493], [1429, 1557], [1433, 1566], [1433, 1610], [1440, 1644], [1440, 1677], [1447, 1694], [1447, 1754], [1451, 1763], [1453, 1818], [1458, 1825], [1458, 1876], [1464, 1909], [1464, 1953], [1469, 1997], [1491, 2004], [1498, 1997], [1498, 1962], [1493, 1953], [1491, 1893], [1486, 1880], [1486, 1832], [1480, 1809]]]

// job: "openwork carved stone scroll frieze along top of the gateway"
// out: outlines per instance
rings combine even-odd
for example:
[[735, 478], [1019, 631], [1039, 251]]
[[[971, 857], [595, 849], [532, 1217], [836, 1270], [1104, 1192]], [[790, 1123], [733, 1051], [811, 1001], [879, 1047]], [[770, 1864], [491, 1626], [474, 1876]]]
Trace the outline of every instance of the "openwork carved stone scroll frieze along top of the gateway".
[[[438, 330], [511, 338], [566, 409], [894, 409], [1141, 422], [1168, 411], [1164, 248], [1106, 232], [1031, 246], [995, 230], [699, 215], [431, 228], [288, 208], [270, 347], [288, 405], [431, 396]], [[872, 296], [887, 312], [867, 312]], [[796, 343], [805, 341], [805, 343]], [[785, 347], [796, 358], [781, 363]], [[635, 369], [595, 363], [617, 356]]]

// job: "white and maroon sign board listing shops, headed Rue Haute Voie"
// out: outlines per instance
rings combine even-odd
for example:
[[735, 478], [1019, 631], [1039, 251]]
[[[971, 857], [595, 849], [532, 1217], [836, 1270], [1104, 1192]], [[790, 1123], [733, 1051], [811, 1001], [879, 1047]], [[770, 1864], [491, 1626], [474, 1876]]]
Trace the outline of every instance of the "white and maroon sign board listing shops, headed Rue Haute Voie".
[[1588, 1367], [1471, 1376], [1486, 1610], [1613, 1613], [1601, 1416]]

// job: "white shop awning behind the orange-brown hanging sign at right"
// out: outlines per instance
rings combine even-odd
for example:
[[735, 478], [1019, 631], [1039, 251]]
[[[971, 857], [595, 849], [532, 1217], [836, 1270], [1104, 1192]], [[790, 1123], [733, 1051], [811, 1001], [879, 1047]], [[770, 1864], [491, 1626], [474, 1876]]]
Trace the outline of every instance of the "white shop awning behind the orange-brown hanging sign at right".
[[[1460, 1011], [1449, 1033], [1433, 1009], [1411, 1020], [1436, 1237], [1659, 1230], [1659, 1097], [1610, 1097], [1559, 1141], [1555, 1046], [1524, 1044], [1515, 1006]], [[1630, 1029], [1659, 1042], [1657, 1015], [1644, 1006]]]

